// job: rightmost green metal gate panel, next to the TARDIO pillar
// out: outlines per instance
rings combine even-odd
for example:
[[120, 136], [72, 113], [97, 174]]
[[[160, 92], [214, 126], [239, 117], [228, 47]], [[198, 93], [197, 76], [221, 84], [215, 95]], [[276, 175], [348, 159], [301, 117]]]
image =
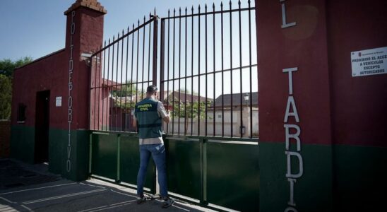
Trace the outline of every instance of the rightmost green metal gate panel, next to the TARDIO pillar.
[[258, 211], [258, 144], [208, 141], [206, 145], [207, 201], [238, 211]]

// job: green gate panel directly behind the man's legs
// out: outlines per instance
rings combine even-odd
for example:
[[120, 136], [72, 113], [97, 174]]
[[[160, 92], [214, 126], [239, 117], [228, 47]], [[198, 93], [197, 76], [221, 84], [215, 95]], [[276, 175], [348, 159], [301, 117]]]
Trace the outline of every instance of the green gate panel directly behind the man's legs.
[[[137, 184], [137, 173], [140, 167], [140, 151], [138, 137], [121, 135], [119, 139], [119, 180], [129, 184]], [[155, 193], [156, 168], [150, 158], [145, 178], [145, 188]]]

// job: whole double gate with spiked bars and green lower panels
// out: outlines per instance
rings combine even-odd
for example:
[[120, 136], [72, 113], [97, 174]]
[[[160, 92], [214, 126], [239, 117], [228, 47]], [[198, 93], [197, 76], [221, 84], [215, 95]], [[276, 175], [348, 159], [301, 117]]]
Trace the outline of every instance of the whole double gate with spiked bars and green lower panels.
[[[136, 187], [132, 110], [155, 84], [172, 116], [163, 126], [170, 194], [220, 210], [258, 211], [254, 20], [250, 1], [179, 8], [161, 18], [160, 48], [154, 13], [97, 49], [91, 59], [90, 175]], [[154, 165], [147, 179], [145, 187], [155, 193]]]

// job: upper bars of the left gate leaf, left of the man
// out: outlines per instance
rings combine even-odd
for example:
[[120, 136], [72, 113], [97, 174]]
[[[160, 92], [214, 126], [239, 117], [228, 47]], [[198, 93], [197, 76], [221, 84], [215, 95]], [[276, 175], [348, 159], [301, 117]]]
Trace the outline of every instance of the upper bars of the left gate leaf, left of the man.
[[133, 132], [133, 106], [156, 84], [157, 16], [138, 20], [91, 56], [90, 129]]

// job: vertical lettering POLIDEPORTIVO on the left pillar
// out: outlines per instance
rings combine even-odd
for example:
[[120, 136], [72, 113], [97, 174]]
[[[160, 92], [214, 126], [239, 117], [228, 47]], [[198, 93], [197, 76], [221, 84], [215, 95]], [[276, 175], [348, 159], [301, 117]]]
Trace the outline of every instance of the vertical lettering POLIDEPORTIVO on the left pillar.
[[71, 123], [73, 122], [73, 97], [71, 96], [71, 90], [73, 90], [73, 78], [71, 77], [74, 70], [74, 60], [73, 60], [73, 35], [76, 32], [76, 23], [74, 22], [74, 17], [76, 16], [76, 11], [71, 12], [71, 26], [70, 26], [70, 59], [69, 59], [69, 103], [67, 115], [69, 122], [69, 141], [67, 143], [67, 161], [66, 161], [66, 170], [67, 172], [71, 171]]

